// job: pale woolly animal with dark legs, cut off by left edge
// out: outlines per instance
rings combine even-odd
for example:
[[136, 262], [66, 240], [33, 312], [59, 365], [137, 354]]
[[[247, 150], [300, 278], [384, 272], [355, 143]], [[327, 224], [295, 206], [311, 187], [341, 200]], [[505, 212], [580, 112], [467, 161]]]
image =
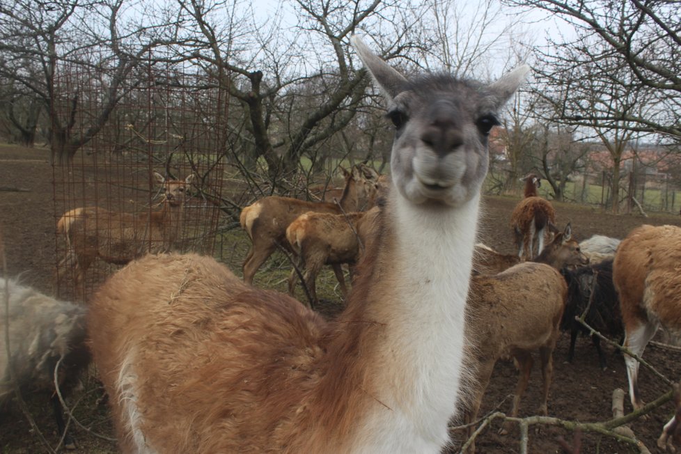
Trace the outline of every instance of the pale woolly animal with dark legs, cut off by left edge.
[[[8, 306], [5, 295], [9, 296]], [[72, 438], [65, 433], [63, 409], [54, 389], [54, 368], [61, 360], [57, 381], [60, 391], [67, 393], [88, 366], [87, 309], [43, 295], [15, 279], [0, 279], [0, 301], [3, 326], [0, 330], [3, 332], [0, 336], [0, 407], [14, 396], [13, 378], [22, 393], [47, 391], [59, 434], [64, 435], [64, 445], [75, 448]]]

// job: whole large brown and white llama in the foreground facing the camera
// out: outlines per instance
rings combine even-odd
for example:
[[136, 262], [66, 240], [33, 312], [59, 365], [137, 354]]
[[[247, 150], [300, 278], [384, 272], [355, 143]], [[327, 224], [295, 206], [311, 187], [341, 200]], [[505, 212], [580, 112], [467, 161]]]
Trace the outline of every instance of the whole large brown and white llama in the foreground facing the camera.
[[[526, 66], [411, 81], [352, 39], [396, 125], [392, 187], [327, 322], [195, 254], [104, 283], [88, 328], [123, 452], [439, 453], [456, 413], [487, 134]], [[424, 306], [425, 305], [425, 306]]]

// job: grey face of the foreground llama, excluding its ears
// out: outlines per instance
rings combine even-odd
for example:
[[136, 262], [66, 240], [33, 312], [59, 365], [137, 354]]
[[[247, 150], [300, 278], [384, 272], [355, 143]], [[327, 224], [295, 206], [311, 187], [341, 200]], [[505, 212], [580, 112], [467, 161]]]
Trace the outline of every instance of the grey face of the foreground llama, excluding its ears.
[[393, 120], [393, 180], [412, 203], [456, 206], [480, 189], [487, 173], [487, 134], [498, 121], [491, 111], [476, 107], [471, 113], [462, 100], [479, 104], [480, 95], [473, 87], [439, 79], [403, 91], [389, 105], [390, 118], [400, 118]]

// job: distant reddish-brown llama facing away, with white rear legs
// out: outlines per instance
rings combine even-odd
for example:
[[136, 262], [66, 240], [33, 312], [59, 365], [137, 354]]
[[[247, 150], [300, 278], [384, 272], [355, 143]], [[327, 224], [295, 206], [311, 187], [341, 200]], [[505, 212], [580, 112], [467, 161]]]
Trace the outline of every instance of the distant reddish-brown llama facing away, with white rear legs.
[[[524, 198], [511, 213], [511, 228], [518, 246], [518, 257], [529, 260], [542, 253], [545, 235], [556, 232], [556, 212], [553, 205], [537, 193], [541, 178], [531, 173], [524, 180]], [[536, 254], [535, 242], [538, 246]]]

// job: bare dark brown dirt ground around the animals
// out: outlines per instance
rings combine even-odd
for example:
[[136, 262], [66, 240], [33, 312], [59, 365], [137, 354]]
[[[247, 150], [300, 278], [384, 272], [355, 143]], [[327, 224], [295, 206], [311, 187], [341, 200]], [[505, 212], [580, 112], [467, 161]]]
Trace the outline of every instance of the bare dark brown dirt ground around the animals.
[[[55, 214], [52, 205], [52, 166], [49, 152], [44, 149], [26, 150], [0, 145], [0, 233], [3, 237], [7, 258], [7, 274], [21, 276], [23, 283], [33, 285], [43, 292], [53, 290], [52, 276], [55, 267]], [[513, 197], [486, 197], [485, 215], [482, 222], [481, 239], [486, 244], [504, 253], [514, 253], [508, 219], [517, 202]], [[678, 216], [650, 214], [643, 218], [634, 215], [604, 214], [600, 209], [578, 205], [555, 203], [558, 223], [564, 226], [572, 223], [573, 234], [582, 240], [593, 234], [625, 237], [629, 230], [640, 224], [679, 224]], [[233, 265], [230, 265], [233, 266]], [[240, 272], [240, 270], [235, 270]], [[580, 338], [577, 343], [574, 362], [565, 361], [567, 355], [567, 334], [561, 337], [554, 354], [554, 382], [551, 385], [549, 415], [581, 422], [605, 421], [611, 417], [611, 394], [616, 388], [627, 388], [627, 377], [623, 360], [609, 351], [609, 367], [600, 370], [597, 355], [590, 340]], [[679, 358], [681, 353], [650, 346], [645, 359], [669, 379], [681, 377]], [[79, 422], [92, 432], [112, 436], [108, 412], [97, 400], [102, 391], [97, 386], [93, 370], [85, 377], [85, 391], [77, 391], [74, 399], [80, 399], [76, 416]], [[480, 415], [499, 409], [510, 412], [510, 399], [516, 380], [515, 368], [510, 361], [500, 361], [487, 390]], [[651, 401], [666, 392], [666, 386], [652, 373], [643, 370], [640, 381], [643, 399]], [[541, 376], [538, 368], [533, 370], [529, 388], [522, 400], [521, 416], [531, 416], [539, 406]], [[31, 413], [47, 441], [56, 446], [52, 410], [45, 396], [26, 396]], [[625, 402], [625, 410], [630, 405]], [[659, 452], [655, 440], [662, 425], [671, 416], [673, 408], [667, 403], [652, 412], [647, 419], [638, 419], [631, 424], [636, 436], [652, 453]], [[518, 453], [519, 432], [512, 430], [509, 435], [497, 435], [499, 423], [483, 432], [478, 438], [480, 453]], [[113, 453], [115, 444], [96, 437], [82, 428], [75, 428], [78, 442], [77, 452]], [[572, 441], [572, 433], [556, 428], [530, 428], [529, 451], [531, 453], [563, 453], [558, 437]], [[38, 453], [47, 451], [31, 430], [26, 418], [13, 406], [0, 413], [0, 454]], [[593, 432], [581, 437], [581, 453], [633, 453], [634, 448], [613, 441], [610, 437]]]

